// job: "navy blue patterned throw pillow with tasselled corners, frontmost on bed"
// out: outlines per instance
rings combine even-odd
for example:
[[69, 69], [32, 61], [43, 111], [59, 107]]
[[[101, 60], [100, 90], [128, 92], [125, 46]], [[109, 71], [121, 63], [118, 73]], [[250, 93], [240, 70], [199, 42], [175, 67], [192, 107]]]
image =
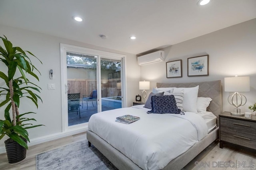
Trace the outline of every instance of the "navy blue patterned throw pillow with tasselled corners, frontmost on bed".
[[147, 113], [174, 113], [184, 115], [176, 105], [176, 100], [173, 95], [168, 96], [152, 96], [151, 97], [152, 110]]

